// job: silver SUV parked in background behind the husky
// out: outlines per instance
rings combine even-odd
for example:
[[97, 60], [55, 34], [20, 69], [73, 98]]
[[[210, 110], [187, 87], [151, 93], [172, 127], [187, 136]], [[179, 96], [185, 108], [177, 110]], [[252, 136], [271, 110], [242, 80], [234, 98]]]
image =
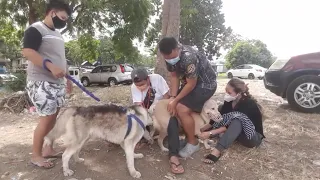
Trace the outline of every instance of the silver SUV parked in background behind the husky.
[[91, 84], [108, 84], [114, 86], [117, 84], [131, 84], [131, 71], [133, 68], [125, 64], [109, 64], [97, 66], [91, 72], [83, 72], [81, 83], [84, 86]]

